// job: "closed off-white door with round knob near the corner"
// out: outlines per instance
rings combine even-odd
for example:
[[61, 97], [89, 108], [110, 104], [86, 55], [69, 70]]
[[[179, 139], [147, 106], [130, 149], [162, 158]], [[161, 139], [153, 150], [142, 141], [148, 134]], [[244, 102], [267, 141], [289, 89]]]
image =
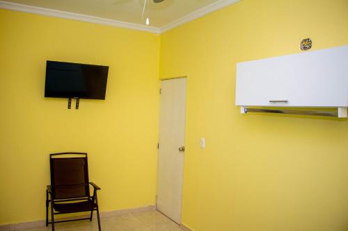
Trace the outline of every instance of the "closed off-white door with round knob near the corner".
[[186, 78], [161, 80], [157, 209], [181, 222]]

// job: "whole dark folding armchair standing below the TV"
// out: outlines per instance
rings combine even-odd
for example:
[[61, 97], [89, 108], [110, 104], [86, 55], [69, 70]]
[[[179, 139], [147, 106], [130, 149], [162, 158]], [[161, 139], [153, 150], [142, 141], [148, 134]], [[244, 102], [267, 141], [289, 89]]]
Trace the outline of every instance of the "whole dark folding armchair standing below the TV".
[[[93, 211], [97, 211], [98, 227], [100, 217], [97, 200], [97, 190], [100, 187], [88, 181], [87, 153], [54, 153], [49, 155], [51, 168], [51, 185], [46, 191], [46, 226], [66, 221], [89, 219], [92, 221]], [[90, 196], [90, 185], [93, 186], [93, 196]], [[51, 222], [48, 221], [48, 209], [51, 205]], [[90, 211], [90, 218], [54, 221], [55, 214], [69, 214]]]

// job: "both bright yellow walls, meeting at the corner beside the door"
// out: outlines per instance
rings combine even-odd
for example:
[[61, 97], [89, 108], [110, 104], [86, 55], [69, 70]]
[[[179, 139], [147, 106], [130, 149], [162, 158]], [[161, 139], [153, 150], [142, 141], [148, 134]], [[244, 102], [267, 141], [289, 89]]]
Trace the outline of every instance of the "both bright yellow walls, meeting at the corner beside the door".
[[[345, 45], [347, 28], [347, 0], [243, 0], [161, 41], [0, 10], [0, 225], [45, 218], [48, 154], [60, 151], [89, 153], [102, 211], [154, 204], [158, 77], [187, 75], [184, 224], [347, 230], [348, 121], [241, 115], [234, 105], [237, 62], [299, 53], [306, 37], [313, 49]], [[45, 98], [45, 60], [109, 65], [106, 101], [68, 110]]]

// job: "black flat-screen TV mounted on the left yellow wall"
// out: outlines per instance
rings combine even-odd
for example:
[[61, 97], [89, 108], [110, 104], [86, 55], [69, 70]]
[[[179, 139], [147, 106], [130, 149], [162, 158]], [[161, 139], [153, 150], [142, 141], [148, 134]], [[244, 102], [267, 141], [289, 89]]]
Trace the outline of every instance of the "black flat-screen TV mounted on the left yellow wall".
[[105, 99], [109, 67], [47, 61], [45, 97]]

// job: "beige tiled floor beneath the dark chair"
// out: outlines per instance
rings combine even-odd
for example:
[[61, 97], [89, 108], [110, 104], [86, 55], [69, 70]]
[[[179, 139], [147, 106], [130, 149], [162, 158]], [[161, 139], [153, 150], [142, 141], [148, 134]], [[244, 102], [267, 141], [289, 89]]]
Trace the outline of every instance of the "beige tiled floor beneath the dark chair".
[[[54, 225], [56, 231], [97, 231], [97, 219], [93, 221], [72, 221]], [[179, 225], [156, 210], [134, 212], [108, 218], [101, 218], [102, 231], [182, 231]], [[50, 231], [49, 227], [26, 228], [21, 231]]]

